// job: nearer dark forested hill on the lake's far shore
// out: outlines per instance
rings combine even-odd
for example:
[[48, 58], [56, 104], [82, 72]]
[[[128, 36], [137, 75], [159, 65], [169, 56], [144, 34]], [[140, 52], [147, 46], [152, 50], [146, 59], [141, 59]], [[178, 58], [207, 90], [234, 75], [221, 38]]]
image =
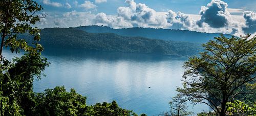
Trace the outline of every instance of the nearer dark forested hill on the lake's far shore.
[[[125, 37], [112, 33], [87, 33], [74, 28], [46, 28], [41, 30], [40, 35], [40, 42], [44, 47], [176, 56], [195, 55], [202, 50], [199, 43]], [[19, 38], [32, 40], [27, 34], [19, 35]]]

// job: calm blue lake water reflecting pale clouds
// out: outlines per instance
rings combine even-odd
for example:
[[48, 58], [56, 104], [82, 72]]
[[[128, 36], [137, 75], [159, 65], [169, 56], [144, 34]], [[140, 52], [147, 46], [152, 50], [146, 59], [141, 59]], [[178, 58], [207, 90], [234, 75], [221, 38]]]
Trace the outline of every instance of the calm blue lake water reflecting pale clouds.
[[[4, 51], [6, 58], [15, 54]], [[141, 114], [169, 110], [169, 101], [182, 85], [186, 58], [113, 52], [51, 49], [42, 54], [51, 63], [46, 77], [34, 81], [33, 90], [64, 85], [87, 96], [87, 104], [116, 100], [122, 108]], [[150, 87], [150, 88], [149, 88]], [[199, 104], [189, 110], [209, 110]]]

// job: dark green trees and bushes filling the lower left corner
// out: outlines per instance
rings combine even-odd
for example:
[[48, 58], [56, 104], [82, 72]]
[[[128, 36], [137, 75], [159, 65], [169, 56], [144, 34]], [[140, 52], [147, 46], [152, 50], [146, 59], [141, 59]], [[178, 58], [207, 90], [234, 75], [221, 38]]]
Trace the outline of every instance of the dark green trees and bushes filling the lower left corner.
[[[25, 54], [0, 63], [0, 116], [2, 115], [137, 115], [112, 103], [87, 105], [86, 97], [64, 86], [33, 92], [33, 81], [40, 79], [49, 65], [39, 55]], [[42, 74], [44, 75], [44, 74]]]

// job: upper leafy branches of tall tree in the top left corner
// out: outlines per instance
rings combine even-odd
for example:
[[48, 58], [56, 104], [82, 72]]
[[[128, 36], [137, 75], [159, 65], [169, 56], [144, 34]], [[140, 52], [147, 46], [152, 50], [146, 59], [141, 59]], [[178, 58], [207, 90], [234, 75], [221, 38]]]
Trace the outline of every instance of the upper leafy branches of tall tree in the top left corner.
[[16, 53], [19, 52], [19, 49], [29, 51], [32, 54], [42, 50], [41, 45], [37, 42], [34, 42], [34, 47], [31, 47], [24, 39], [17, 39], [17, 34], [28, 32], [34, 35], [34, 40], [40, 40], [39, 29], [31, 26], [39, 21], [40, 16], [35, 15], [35, 13], [40, 10], [42, 7], [31, 0], [0, 1], [0, 60], [3, 59], [4, 47], [10, 47], [11, 51]]

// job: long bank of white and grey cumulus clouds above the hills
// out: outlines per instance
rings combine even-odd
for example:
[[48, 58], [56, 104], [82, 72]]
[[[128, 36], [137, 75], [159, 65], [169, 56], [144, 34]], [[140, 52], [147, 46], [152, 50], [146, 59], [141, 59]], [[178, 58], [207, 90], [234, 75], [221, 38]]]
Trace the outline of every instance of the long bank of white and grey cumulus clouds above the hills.
[[[228, 33], [236, 36], [256, 32], [255, 12], [244, 12], [244, 15], [231, 15], [231, 12], [241, 12], [238, 9], [228, 9], [225, 2], [212, 0], [202, 7], [200, 14], [185, 14], [168, 10], [158, 12], [146, 4], [126, 0], [126, 6], [118, 7], [116, 15], [89, 12], [66, 12], [62, 15], [51, 15], [46, 18], [48, 26], [76, 27], [84, 25], [104, 25], [112, 28], [165, 28], [184, 29], [207, 33]], [[84, 9], [94, 9], [97, 6], [90, 1], [78, 5]], [[53, 22], [50, 22], [52, 21]]]

